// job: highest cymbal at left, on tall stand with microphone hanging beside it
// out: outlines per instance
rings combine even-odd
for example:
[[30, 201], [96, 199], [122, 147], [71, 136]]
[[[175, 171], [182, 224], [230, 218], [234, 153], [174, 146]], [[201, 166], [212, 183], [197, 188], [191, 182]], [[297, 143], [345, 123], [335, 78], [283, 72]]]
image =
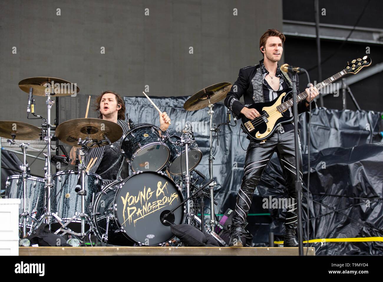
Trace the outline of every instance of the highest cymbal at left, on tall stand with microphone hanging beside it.
[[19, 82], [19, 87], [26, 93], [29, 93], [29, 88], [33, 87], [32, 94], [36, 96], [45, 96], [46, 91], [49, 92], [47, 89], [51, 89], [51, 93], [54, 93], [52, 96], [57, 97], [69, 96], [80, 92], [80, 88], [77, 85], [61, 78], [26, 78]]

